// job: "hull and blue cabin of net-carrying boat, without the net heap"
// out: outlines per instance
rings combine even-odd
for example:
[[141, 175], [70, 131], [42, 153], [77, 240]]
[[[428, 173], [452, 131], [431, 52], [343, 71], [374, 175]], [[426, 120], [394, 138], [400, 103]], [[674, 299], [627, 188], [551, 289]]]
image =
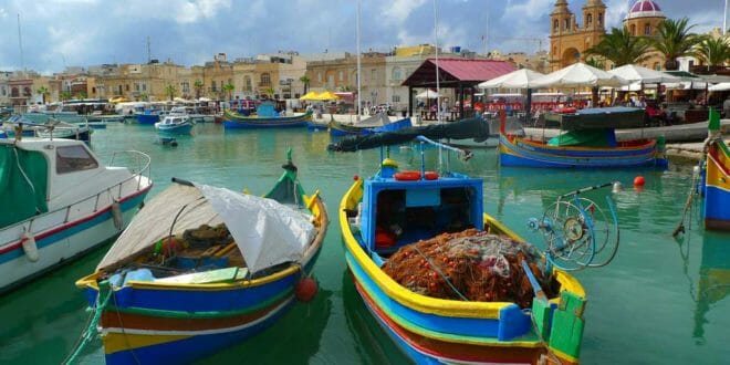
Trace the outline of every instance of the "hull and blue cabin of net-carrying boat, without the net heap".
[[[418, 240], [459, 227], [522, 241], [483, 213], [482, 182], [457, 173], [427, 173], [423, 167], [421, 171], [397, 171], [389, 158], [375, 176], [356, 179], [342, 198], [338, 215], [345, 259], [357, 292], [389, 337], [418, 364], [577, 363], [585, 293], [563, 271], [551, 271], [560, 294], [546, 301], [535, 299], [532, 315], [514, 302], [435, 298], [401, 285], [385, 272], [395, 249], [410, 248]], [[384, 198], [388, 196], [399, 198]], [[388, 247], [383, 244], [382, 220], [386, 218], [379, 209], [393, 207], [403, 208], [396, 210], [406, 218]], [[436, 211], [432, 221], [423, 221], [428, 216], [425, 209]], [[420, 223], [411, 226], [411, 221]], [[426, 263], [437, 272], [438, 262]]]

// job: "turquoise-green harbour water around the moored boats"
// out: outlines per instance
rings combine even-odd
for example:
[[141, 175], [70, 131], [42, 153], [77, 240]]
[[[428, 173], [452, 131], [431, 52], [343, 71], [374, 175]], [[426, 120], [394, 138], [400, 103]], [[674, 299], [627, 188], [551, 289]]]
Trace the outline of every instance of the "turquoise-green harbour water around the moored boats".
[[[326, 133], [291, 131], [223, 131], [199, 124], [195, 135], [178, 137], [176, 148], [154, 144], [149, 126], [109, 125], [94, 132], [92, 148], [103, 158], [112, 152], [138, 149], [153, 158], [155, 187], [170, 177], [248, 189], [263, 194], [280, 176], [288, 147], [294, 150], [300, 178], [309, 190], [319, 188], [332, 222], [314, 274], [320, 292], [259, 336], [231, 347], [202, 364], [386, 364], [406, 359], [377, 326], [355, 292], [340, 239], [336, 209], [354, 175], [377, 168], [378, 150], [353, 154], [326, 152]], [[395, 149], [401, 167], [416, 167], [419, 156]], [[434, 152], [427, 153], [436, 161]], [[667, 171], [553, 171], [500, 169], [493, 149], [476, 150], [468, 163], [451, 160], [452, 169], [484, 178], [489, 213], [525, 239], [542, 244], [526, 227], [560, 194], [611, 180], [627, 187], [614, 195], [620, 222], [620, 247], [611, 265], [575, 273], [587, 292], [584, 364], [719, 364], [730, 347], [730, 234], [705, 232], [699, 205], [689, 211], [687, 233], [671, 232], [681, 218], [691, 181], [691, 165]], [[630, 187], [635, 176], [646, 186]], [[603, 201], [608, 190], [591, 194]], [[93, 271], [105, 246], [23, 288], [0, 296], [0, 363], [58, 364], [69, 355], [90, 313], [74, 281]], [[101, 341], [83, 353], [82, 363], [103, 363]]]

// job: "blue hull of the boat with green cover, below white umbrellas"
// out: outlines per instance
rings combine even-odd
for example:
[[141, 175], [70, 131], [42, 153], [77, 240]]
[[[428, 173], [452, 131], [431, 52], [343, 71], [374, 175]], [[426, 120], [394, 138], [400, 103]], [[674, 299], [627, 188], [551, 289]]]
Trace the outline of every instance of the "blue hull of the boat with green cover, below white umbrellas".
[[560, 147], [500, 135], [499, 155], [501, 166], [548, 168], [667, 167], [667, 159], [654, 140], [635, 147]]

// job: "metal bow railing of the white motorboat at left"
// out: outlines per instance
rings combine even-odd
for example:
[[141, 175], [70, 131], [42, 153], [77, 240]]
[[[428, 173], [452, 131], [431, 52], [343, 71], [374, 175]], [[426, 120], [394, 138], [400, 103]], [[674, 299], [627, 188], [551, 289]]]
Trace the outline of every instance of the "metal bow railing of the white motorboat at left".
[[[119, 201], [123, 198], [123, 192], [124, 192], [124, 187], [129, 186], [129, 181], [136, 180], [136, 187], [135, 190], [139, 191], [143, 188], [146, 188], [147, 186], [143, 187], [142, 181], [143, 179], [140, 178], [142, 176], [147, 177], [147, 180], [149, 181], [150, 177], [150, 163], [152, 158], [149, 155], [138, 152], [138, 150], [124, 150], [124, 152], [118, 152], [113, 154], [111, 163], [108, 166], [114, 166], [114, 160], [116, 156], [121, 155], [128, 155], [134, 159], [134, 161], [137, 164], [136, 167], [126, 167], [129, 169], [132, 173], [132, 176], [116, 182], [115, 185], [105, 187], [104, 189], [100, 190], [95, 195], [91, 195], [86, 198], [70, 202], [65, 205], [62, 208], [45, 212], [40, 216], [31, 217], [28, 218], [23, 221], [20, 221], [14, 225], [10, 225], [3, 228], [0, 228], [0, 237], [4, 236], [6, 232], [14, 230], [19, 230], [19, 234], [22, 233], [22, 231], [28, 231], [28, 232], [40, 232], [43, 230], [51, 229], [53, 227], [58, 227], [59, 225], [65, 225], [71, 220], [71, 213], [72, 212], [80, 212], [80, 211], [90, 211], [90, 208], [92, 208], [91, 202], [93, 201], [93, 209], [91, 210], [92, 212], [97, 212], [100, 208], [102, 208], [102, 205], [106, 206], [106, 202], [111, 200], [112, 202]], [[105, 197], [108, 197], [107, 199], [104, 199]], [[61, 216], [63, 216], [63, 220], [61, 220]], [[39, 223], [35, 223], [36, 221], [40, 221]], [[38, 225], [41, 225], [41, 227], [38, 227]], [[20, 237], [20, 236], [19, 236]]]

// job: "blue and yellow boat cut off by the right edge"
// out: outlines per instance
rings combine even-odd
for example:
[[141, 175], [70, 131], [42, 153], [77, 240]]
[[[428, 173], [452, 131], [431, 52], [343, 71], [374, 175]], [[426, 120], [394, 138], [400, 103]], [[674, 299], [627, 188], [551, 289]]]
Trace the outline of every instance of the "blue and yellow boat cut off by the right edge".
[[705, 228], [730, 231], [730, 148], [722, 139], [720, 116], [710, 114], [705, 170]]

